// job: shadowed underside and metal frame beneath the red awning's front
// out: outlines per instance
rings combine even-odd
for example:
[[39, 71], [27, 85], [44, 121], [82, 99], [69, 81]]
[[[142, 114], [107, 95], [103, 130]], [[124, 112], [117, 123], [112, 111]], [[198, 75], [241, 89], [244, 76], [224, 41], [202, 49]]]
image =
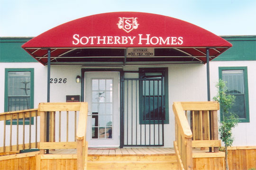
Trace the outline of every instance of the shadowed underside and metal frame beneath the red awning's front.
[[[210, 60], [228, 48], [209, 48]], [[206, 49], [207, 47], [155, 48], [154, 56], [127, 56], [127, 48], [50, 48], [51, 65], [206, 63]], [[47, 64], [47, 48], [25, 48], [25, 50], [42, 64]]]

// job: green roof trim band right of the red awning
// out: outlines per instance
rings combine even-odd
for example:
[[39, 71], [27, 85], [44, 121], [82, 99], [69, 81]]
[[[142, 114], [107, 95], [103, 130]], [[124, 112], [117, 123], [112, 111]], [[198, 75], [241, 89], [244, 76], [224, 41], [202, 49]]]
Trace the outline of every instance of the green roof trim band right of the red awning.
[[247, 61], [256, 60], [256, 35], [221, 36], [233, 47], [220, 54], [212, 61]]

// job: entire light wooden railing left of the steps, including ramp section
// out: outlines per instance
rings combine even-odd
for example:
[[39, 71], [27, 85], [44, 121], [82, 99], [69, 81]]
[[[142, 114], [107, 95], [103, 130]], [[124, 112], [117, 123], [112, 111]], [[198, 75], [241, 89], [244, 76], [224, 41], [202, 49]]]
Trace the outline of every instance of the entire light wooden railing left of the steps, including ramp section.
[[[40, 149], [40, 154], [45, 154], [47, 149], [77, 149], [77, 169], [85, 170], [88, 151], [86, 142], [87, 110], [87, 102], [63, 102], [39, 103], [38, 109], [0, 113], [0, 123], [3, 124], [3, 146], [0, 147], [0, 155], [11, 152], [18, 153], [20, 150], [31, 148]], [[47, 113], [50, 118], [49, 142], [46, 142]], [[33, 117], [34, 125], [32, 125]], [[19, 119], [19, 124], [22, 125], [13, 124], [14, 120], [17, 121], [17, 118]], [[39, 121], [38, 118], [40, 119], [40, 127], [37, 123]], [[25, 125], [26, 121], [29, 126]], [[7, 125], [7, 123], [10, 125]], [[19, 139], [20, 126], [23, 127], [22, 140]], [[39, 137], [37, 133], [40, 134], [40, 143], [37, 142]], [[9, 140], [7, 139], [8, 137]], [[28, 138], [27, 143], [25, 138]], [[14, 140], [16, 140], [16, 144], [13, 145], [15, 143], [13, 142]], [[9, 145], [6, 144], [7, 141], [9, 141]]]

